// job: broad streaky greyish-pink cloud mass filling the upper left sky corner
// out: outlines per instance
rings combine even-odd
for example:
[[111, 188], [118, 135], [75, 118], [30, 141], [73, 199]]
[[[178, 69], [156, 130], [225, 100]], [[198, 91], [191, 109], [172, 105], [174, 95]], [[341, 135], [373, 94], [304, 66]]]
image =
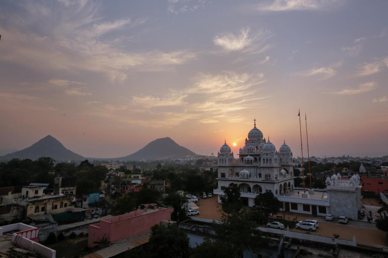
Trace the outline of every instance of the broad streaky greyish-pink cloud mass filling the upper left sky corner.
[[[147, 18], [102, 21], [101, 6], [87, 0], [62, 1], [53, 5], [31, 3], [24, 12], [7, 14], [9, 24], [0, 26], [7, 34], [0, 60], [53, 71], [91, 71], [122, 82], [131, 70], [160, 71], [196, 57], [189, 50], [128, 52], [121, 46], [118, 31], [140, 26]], [[42, 10], [40, 10], [42, 9]], [[39, 15], [36, 13], [39, 12]], [[45, 22], [43, 33], [33, 33], [24, 24]], [[5, 27], [4, 27], [5, 26]], [[57, 82], [60, 83], [60, 82]], [[63, 84], [62, 84], [63, 85]]]

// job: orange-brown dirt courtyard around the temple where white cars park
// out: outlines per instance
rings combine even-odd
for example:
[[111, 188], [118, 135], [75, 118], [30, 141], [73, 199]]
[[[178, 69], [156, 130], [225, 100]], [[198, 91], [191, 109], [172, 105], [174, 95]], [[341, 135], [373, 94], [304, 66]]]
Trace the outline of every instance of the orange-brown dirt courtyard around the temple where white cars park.
[[[366, 198], [370, 200], [372, 198]], [[372, 200], [371, 200], [372, 201]], [[371, 202], [372, 203], [372, 202]], [[377, 203], [377, 201], [376, 201]], [[373, 205], [376, 205], [373, 203]], [[199, 207], [200, 215], [195, 217], [199, 218], [208, 218], [213, 220], [220, 220], [221, 218], [221, 204], [217, 202], [217, 195], [214, 195], [212, 198], [208, 199], [199, 199], [196, 203]], [[278, 215], [281, 215], [280, 213]], [[293, 218], [297, 220], [304, 220], [307, 218], [312, 218], [312, 215], [305, 215], [300, 213], [291, 213], [287, 212], [285, 219], [292, 220]], [[376, 225], [362, 221], [350, 220], [348, 224], [339, 224], [337, 219], [334, 219], [333, 222], [326, 221], [324, 217], [317, 216], [314, 219], [319, 221], [319, 228], [316, 232], [311, 234], [333, 237], [333, 234], [340, 235], [340, 239], [353, 240], [353, 236], [356, 237], [357, 243], [367, 244], [367, 245], [380, 245], [387, 246], [386, 241], [386, 232], [378, 230]], [[296, 232], [306, 233], [306, 230], [292, 229]]]

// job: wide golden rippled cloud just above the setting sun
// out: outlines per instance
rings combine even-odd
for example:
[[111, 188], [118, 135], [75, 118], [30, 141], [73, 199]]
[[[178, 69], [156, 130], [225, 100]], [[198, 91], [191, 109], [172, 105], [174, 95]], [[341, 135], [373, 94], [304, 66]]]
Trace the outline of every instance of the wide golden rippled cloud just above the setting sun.
[[89, 114], [151, 127], [177, 126], [187, 120], [202, 124], [241, 122], [245, 119], [242, 110], [260, 107], [270, 98], [256, 94], [265, 82], [263, 76], [235, 72], [199, 74], [182, 91], [135, 95], [129, 103], [95, 105], [94, 112]]

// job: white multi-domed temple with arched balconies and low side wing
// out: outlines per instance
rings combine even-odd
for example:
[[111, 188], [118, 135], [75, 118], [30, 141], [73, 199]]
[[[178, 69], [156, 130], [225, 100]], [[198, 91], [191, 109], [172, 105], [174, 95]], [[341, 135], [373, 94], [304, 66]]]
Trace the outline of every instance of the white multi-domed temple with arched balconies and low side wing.
[[218, 188], [213, 191], [218, 194], [218, 203], [224, 189], [235, 184], [248, 206], [253, 206], [258, 194], [272, 192], [287, 212], [358, 218], [362, 206], [359, 175], [346, 180], [334, 174], [327, 177], [325, 189], [306, 188], [303, 193], [303, 188], [294, 186], [293, 154], [286, 141], [277, 151], [269, 138], [263, 138], [254, 121], [238, 157], [234, 157], [226, 141], [218, 152]]

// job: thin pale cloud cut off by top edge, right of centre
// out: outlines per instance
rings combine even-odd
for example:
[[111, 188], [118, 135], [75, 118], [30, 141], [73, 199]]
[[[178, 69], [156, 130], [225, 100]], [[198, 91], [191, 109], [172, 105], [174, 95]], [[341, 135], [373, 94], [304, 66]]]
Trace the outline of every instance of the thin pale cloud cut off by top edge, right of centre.
[[257, 10], [267, 12], [284, 12], [294, 10], [324, 10], [338, 0], [271, 0], [257, 5]]

